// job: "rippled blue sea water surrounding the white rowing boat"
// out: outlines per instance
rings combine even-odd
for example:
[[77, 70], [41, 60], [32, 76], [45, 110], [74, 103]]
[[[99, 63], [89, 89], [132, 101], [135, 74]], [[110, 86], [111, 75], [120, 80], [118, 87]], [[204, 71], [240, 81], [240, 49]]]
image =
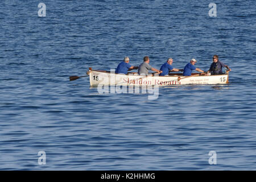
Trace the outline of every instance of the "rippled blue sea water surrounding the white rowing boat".
[[[255, 170], [255, 9], [252, 0], [0, 1], [0, 169]], [[156, 100], [69, 81], [125, 56], [158, 69], [195, 58], [207, 71], [213, 55], [232, 69], [230, 84], [168, 86]]]

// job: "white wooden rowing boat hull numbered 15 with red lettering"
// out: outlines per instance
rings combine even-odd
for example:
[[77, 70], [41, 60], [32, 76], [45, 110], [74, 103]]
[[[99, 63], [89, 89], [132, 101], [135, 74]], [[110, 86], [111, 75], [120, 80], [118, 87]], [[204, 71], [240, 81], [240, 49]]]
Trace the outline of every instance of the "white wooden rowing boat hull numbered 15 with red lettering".
[[186, 84], [228, 84], [229, 72], [223, 75], [200, 75], [192, 73], [191, 76], [183, 76], [182, 73], [169, 73], [168, 76], [148, 74], [148, 76], [137, 73], [116, 74], [113, 71], [100, 71], [89, 68], [87, 72], [90, 78], [90, 86], [101, 85], [124, 85], [124, 86], [170, 86]]

